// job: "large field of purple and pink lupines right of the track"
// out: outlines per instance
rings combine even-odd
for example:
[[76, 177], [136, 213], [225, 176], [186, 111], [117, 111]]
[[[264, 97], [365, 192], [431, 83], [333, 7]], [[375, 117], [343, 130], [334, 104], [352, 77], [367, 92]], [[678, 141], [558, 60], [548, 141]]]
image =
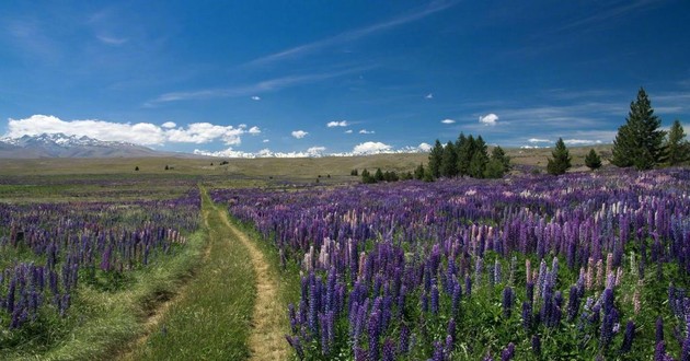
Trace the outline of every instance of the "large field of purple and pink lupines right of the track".
[[690, 360], [688, 170], [212, 198], [299, 265], [300, 359]]

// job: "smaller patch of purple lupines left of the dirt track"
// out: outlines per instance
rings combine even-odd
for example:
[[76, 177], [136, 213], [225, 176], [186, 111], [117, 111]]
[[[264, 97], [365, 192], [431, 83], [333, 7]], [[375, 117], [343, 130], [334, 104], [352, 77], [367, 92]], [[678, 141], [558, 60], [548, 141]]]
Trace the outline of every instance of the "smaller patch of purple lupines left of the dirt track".
[[116, 295], [136, 271], [181, 252], [199, 221], [198, 189], [187, 189], [171, 199], [0, 202], [0, 356], [64, 342], [89, 322], [72, 312], [84, 293]]

